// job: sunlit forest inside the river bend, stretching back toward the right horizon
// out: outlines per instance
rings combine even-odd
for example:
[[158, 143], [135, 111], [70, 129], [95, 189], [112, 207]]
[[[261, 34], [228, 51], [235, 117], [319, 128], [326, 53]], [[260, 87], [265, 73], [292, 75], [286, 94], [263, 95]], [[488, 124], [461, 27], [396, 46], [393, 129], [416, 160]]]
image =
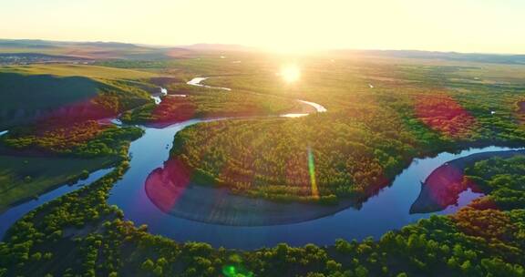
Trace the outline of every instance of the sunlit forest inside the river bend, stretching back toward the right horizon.
[[[394, 66], [359, 64], [356, 75], [347, 77], [347, 68], [312, 63], [315, 71], [305, 70], [301, 84], [275, 85], [269, 74], [210, 82], [304, 97], [328, 113], [199, 124], [177, 134], [171, 156], [235, 193], [335, 203], [366, 200], [417, 157], [445, 149], [523, 145], [525, 130], [515, 108], [518, 85], [488, 87], [460, 79], [470, 67], [405, 65], [389, 71]], [[319, 195], [312, 186], [309, 151]]]

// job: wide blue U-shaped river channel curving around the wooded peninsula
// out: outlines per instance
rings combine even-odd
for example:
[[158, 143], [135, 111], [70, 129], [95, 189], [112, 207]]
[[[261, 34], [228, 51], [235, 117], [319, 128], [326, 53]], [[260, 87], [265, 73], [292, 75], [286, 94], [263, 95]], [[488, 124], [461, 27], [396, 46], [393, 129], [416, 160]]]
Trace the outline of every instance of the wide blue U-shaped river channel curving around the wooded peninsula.
[[448, 214], [478, 195], [470, 190], [461, 193], [458, 206], [433, 213], [410, 214], [417, 199], [421, 181], [440, 165], [452, 159], [485, 151], [504, 151], [508, 148], [488, 147], [463, 150], [458, 154], [441, 153], [435, 158], [415, 159], [399, 174], [390, 187], [367, 200], [360, 210], [348, 208], [323, 218], [300, 223], [271, 226], [229, 226], [190, 221], [157, 208], [146, 194], [144, 184], [149, 173], [163, 167], [169, 159], [174, 135], [182, 128], [201, 122], [195, 119], [168, 128], [146, 128], [144, 137], [131, 144], [130, 169], [111, 190], [109, 204], [124, 210], [125, 217], [136, 224], [148, 224], [149, 231], [175, 241], [205, 241], [211, 245], [237, 249], [274, 246], [279, 242], [290, 245], [305, 243], [331, 244], [337, 238], [361, 240], [368, 236], [379, 238], [386, 231], [400, 229], [431, 214]]

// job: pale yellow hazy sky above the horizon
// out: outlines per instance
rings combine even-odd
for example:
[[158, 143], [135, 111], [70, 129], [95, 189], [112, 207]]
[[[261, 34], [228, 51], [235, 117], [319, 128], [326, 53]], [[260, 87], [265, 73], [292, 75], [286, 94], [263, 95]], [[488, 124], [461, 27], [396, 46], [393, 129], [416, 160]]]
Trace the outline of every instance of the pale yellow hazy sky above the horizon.
[[525, 0], [0, 0], [0, 37], [525, 53]]

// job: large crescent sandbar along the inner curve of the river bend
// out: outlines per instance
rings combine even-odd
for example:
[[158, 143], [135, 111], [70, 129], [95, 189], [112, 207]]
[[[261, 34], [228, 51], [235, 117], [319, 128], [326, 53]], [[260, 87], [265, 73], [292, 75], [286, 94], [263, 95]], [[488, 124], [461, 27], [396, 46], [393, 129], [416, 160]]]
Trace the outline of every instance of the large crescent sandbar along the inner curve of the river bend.
[[153, 170], [145, 184], [149, 200], [163, 212], [188, 219], [230, 226], [269, 226], [311, 221], [355, 205], [343, 200], [335, 205], [297, 201], [278, 202], [235, 195], [226, 188], [192, 181], [194, 174], [178, 159]]

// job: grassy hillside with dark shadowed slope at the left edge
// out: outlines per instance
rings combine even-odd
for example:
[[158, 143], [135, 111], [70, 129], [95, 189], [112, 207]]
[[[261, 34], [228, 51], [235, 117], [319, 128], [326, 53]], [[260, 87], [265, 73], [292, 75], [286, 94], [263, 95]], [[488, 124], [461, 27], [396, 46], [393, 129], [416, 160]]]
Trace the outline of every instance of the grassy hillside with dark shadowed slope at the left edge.
[[[150, 101], [154, 86], [138, 79], [157, 75], [127, 69], [37, 65], [0, 67], [0, 128], [62, 117], [98, 119]], [[103, 109], [104, 111], [101, 111]], [[69, 111], [67, 111], [69, 110]]]

